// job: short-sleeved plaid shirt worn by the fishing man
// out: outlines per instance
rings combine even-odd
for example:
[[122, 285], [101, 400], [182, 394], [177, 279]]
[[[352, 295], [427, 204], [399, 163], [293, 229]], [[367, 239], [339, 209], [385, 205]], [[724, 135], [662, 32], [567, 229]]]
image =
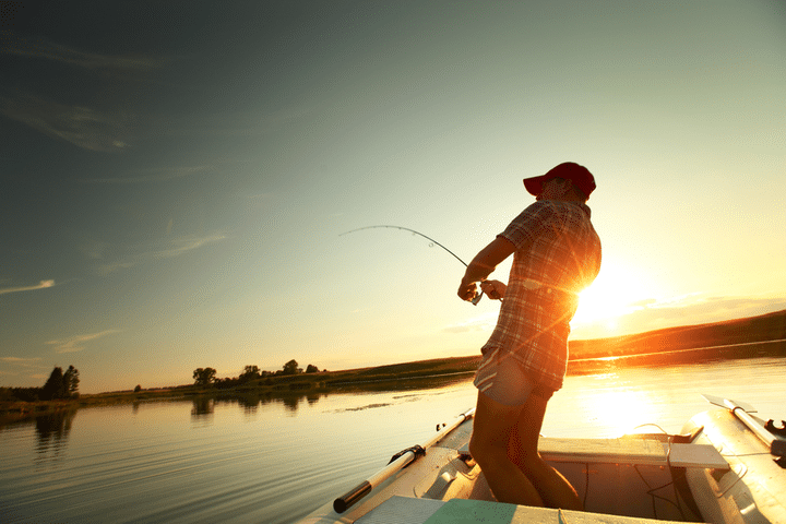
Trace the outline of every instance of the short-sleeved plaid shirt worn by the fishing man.
[[600, 271], [600, 239], [585, 204], [544, 200], [524, 210], [499, 236], [510, 240], [510, 281], [484, 355], [515, 358], [536, 383], [562, 388], [570, 320], [579, 291]]

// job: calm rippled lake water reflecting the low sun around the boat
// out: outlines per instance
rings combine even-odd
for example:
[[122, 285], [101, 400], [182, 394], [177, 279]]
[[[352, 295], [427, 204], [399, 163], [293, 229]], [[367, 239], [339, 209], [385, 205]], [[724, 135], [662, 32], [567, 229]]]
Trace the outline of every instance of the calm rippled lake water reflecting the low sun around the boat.
[[[748, 402], [779, 421], [785, 371], [786, 359], [767, 357], [568, 377], [543, 433], [615, 437], [647, 424], [679, 432], [711, 408], [701, 393]], [[91, 407], [7, 426], [0, 521], [297, 521], [475, 404], [469, 378], [421, 386]]]

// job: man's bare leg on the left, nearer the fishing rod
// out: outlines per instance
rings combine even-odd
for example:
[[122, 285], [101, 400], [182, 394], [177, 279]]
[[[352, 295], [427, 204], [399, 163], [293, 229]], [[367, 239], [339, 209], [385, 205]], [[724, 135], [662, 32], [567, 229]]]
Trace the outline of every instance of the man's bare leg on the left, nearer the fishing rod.
[[538, 490], [509, 457], [523, 406], [505, 406], [478, 392], [469, 453], [477, 461], [500, 502], [544, 505]]

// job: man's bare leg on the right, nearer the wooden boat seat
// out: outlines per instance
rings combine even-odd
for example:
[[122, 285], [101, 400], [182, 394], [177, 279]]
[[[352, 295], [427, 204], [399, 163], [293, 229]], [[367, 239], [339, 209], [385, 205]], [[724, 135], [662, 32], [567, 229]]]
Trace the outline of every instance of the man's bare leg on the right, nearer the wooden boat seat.
[[[582, 511], [584, 505], [573, 486], [540, 457], [537, 451], [548, 401], [529, 395], [511, 436], [510, 460], [527, 476], [549, 508]], [[483, 465], [480, 466], [483, 467]]]

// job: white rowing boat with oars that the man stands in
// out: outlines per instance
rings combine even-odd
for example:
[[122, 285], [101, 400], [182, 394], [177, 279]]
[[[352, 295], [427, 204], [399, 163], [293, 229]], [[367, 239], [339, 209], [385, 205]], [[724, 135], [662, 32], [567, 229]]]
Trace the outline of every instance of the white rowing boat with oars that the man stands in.
[[786, 422], [703, 396], [713, 407], [678, 434], [541, 436], [540, 455], [573, 485], [584, 511], [497, 502], [468, 452], [469, 409], [299, 524], [786, 524]]

